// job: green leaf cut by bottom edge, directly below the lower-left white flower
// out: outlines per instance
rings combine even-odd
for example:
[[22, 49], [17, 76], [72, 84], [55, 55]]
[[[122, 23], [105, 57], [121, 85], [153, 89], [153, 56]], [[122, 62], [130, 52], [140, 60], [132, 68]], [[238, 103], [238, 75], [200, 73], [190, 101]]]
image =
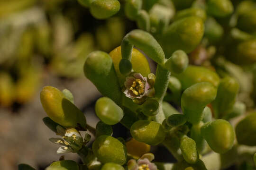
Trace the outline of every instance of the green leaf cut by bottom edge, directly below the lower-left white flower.
[[79, 170], [79, 166], [71, 160], [55, 161], [46, 170]]

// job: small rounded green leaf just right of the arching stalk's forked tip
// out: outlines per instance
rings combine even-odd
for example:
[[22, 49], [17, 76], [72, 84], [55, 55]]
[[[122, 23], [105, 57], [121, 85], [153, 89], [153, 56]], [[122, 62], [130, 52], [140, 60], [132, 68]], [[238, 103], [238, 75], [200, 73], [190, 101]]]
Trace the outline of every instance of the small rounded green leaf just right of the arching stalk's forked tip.
[[165, 68], [171, 73], [182, 73], [188, 67], [189, 59], [182, 50], [175, 51], [172, 56], [165, 61]]

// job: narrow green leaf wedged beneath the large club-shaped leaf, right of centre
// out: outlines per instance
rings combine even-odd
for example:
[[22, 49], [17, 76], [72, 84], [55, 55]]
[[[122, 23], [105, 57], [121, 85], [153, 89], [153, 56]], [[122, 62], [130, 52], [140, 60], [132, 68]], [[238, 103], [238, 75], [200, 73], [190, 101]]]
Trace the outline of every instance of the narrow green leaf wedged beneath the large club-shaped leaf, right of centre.
[[[207, 107], [205, 107], [207, 108]], [[204, 140], [203, 136], [201, 135], [201, 127], [203, 126], [203, 122], [201, 121], [198, 124], [192, 125], [190, 129], [190, 137], [195, 141], [196, 148], [199, 153], [203, 151], [206, 146], [206, 141]]]

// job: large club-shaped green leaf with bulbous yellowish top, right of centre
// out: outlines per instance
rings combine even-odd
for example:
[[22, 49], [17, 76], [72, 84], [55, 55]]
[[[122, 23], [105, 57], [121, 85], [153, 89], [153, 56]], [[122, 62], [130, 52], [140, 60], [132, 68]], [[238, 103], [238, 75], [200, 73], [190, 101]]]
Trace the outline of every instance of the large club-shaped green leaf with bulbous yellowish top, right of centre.
[[181, 98], [183, 114], [192, 124], [203, 119], [203, 110], [216, 97], [217, 89], [208, 82], [197, 83], [187, 88]]

